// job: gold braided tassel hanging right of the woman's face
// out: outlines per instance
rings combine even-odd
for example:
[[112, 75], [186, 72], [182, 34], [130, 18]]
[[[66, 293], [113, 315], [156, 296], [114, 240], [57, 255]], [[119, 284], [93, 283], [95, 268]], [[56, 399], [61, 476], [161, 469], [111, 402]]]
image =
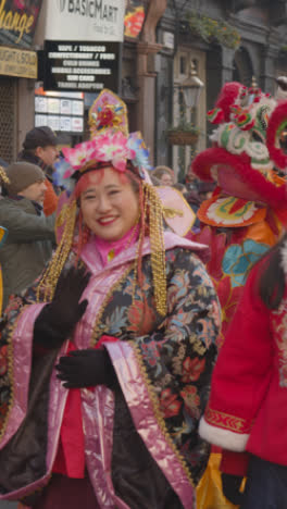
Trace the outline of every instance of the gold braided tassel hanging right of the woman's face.
[[158, 312], [164, 316], [166, 314], [166, 270], [163, 235], [163, 206], [153, 186], [144, 183], [144, 190], [148, 203], [154, 300]]

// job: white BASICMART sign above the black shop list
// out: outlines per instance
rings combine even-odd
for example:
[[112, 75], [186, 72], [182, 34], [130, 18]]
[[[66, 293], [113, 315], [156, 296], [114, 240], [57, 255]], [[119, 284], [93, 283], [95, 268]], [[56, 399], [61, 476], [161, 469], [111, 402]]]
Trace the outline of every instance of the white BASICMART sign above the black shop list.
[[125, 0], [49, 0], [45, 39], [122, 42], [124, 15]]

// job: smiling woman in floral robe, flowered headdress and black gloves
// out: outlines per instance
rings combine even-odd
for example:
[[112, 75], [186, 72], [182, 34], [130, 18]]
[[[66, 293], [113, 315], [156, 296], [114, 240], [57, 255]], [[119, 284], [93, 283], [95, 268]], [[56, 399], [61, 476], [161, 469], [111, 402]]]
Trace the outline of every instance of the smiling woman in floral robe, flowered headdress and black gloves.
[[[165, 227], [125, 104], [103, 90], [90, 120], [92, 139], [64, 150], [71, 194], [60, 200], [58, 249], [8, 310], [0, 499], [190, 509], [209, 454], [197, 427], [220, 327], [205, 248]], [[28, 387], [35, 406], [23, 402]]]

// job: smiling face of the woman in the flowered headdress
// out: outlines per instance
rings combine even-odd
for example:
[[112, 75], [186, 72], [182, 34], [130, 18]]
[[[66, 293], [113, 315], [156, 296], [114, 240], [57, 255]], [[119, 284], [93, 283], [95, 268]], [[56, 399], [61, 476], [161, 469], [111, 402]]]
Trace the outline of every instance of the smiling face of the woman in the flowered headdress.
[[138, 195], [129, 181], [123, 182], [118, 172], [110, 166], [103, 170], [100, 179], [97, 172], [90, 175], [80, 195], [80, 209], [92, 233], [104, 240], [118, 240], [138, 220]]

